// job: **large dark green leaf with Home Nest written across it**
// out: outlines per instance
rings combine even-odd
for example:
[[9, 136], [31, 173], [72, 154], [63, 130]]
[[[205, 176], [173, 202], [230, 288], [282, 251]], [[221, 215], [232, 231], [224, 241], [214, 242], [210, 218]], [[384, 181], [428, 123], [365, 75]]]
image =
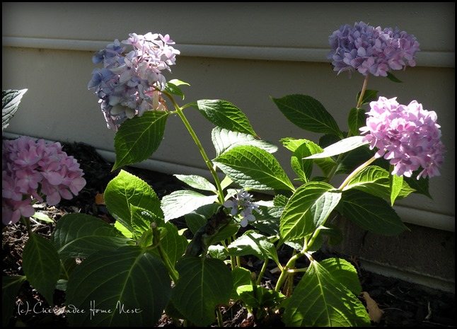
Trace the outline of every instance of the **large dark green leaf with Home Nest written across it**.
[[170, 301], [171, 280], [157, 255], [138, 246], [93, 253], [71, 274], [71, 326], [154, 327]]

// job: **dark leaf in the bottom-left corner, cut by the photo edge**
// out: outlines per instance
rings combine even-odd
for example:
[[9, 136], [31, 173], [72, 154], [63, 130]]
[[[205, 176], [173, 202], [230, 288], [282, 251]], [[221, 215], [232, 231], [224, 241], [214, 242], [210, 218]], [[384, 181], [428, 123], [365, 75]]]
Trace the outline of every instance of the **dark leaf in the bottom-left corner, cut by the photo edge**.
[[[25, 282], [25, 276], [1, 277], [1, 326], [7, 327], [16, 307], [16, 297]], [[22, 302], [21, 302], [22, 303]], [[19, 306], [17, 306], [19, 307]]]

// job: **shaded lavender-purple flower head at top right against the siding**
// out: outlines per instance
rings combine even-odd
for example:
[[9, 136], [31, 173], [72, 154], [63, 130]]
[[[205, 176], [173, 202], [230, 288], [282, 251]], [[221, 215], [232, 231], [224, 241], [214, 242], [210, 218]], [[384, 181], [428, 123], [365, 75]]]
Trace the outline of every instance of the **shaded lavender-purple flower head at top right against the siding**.
[[388, 71], [414, 67], [416, 52], [420, 51], [414, 35], [364, 22], [342, 25], [328, 41], [332, 48], [328, 58], [338, 74], [359, 71], [364, 76], [387, 76]]

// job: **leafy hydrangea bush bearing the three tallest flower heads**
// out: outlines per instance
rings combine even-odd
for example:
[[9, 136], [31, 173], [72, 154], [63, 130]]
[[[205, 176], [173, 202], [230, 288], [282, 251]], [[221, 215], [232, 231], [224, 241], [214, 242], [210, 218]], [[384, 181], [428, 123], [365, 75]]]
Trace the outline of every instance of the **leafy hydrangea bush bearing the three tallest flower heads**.
[[[348, 111], [348, 132], [311, 96], [271, 97], [287, 120], [321, 134], [318, 142], [279, 141], [291, 153], [293, 179], [274, 157], [278, 146], [260, 139], [233, 103], [178, 104], [189, 85], [162, 74], [180, 54], [168, 35], [132, 33], [94, 55], [103, 67], [93, 70], [88, 88], [116, 131], [113, 170], [154, 154], [168, 118], [179, 117], [212, 180], [175, 175], [192, 188], [159, 200], [143, 180], [121, 170], [104, 193], [114, 225], [85, 214], [59, 219], [52, 243], [68, 274], [59, 287], [79, 310], [67, 314], [70, 325], [156, 325], [166, 313], [176, 323], [222, 326], [221, 307], [236, 301], [258, 325], [271, 316], [286, 326], [370, 325], [355, 267], [340, 258], [318, 261], [313, 253], [344, 238], [330, 223], [339, 214], [385, 236], [407, 230], [392, 206], [412, 192], [429, 197], [428, 180], [439, 175], [444, 146], [434, 111], [367, 88], [369, 76], [398, 82], [392, 71], [415, 66], [420, 49], [413, 35], [359, 22], [336, 30], [329, 43], [334, 70], [359, 72], [364, 83]], [[215, 158], [187, 121], [188, 108], [214, 125]], [[314, 168], [320, 175], [313, 177]], [[343, 183], [332, 185], [335, 176]], [[254, 191], [272, 197], [255, 200]], [[190, 241], [174, 224], [180, 217]], [[285, 263], [277, 251], [284, 245], [290, 250]], [[245, 256], [262, 260], [262, 269], [243, 266]], [[299, 258], [306, 267], [296, 266]], [[75, 266], [76, 259], [83, 261]], [[261, 285], [269, 262], [279, 273], [272, 289]], [[81, 311], [89, 305], [98, 311]]]

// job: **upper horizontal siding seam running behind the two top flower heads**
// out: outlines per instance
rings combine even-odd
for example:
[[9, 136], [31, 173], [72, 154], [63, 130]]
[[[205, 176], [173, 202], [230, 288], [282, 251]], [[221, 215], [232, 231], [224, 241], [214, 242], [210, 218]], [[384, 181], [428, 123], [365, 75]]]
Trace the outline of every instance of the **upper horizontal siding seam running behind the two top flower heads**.
[[[2, 37], [3, 47], [21, 47], [49, 50], [77, 50], [96, 52], [112, 41], [45, 39], [37, 37]], [[226, 59], [255, 59], [284, 62], [329, 63], [329, 49], [316, 47], [248, 47], [234, 45], [185, 45], [177, 48], [183, 57], [210, 57]], [[417, 67], [455, 68], [455, 52], [421, 51]]]

